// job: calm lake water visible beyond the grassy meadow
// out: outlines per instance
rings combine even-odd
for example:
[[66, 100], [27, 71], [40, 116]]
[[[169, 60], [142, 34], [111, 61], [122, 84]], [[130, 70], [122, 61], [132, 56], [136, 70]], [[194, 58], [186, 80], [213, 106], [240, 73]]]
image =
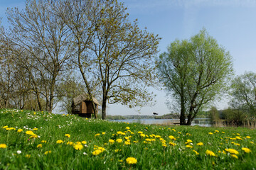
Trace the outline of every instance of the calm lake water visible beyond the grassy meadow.
[[[125, 120], [110, 120], [112, 122], [126, 122], [126, 123], [142, 123], [145, 125], [174, 125], [179, 123], [179, 119], [125, 119]], [[203, 127], [210, 127], [210, 119], [195, 118], [191, 125], [199, 125]]]

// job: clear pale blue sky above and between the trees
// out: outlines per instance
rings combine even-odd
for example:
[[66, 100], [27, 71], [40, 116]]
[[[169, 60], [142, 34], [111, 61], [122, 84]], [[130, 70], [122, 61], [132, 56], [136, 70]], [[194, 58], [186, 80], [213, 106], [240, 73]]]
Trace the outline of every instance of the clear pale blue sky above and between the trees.
[[[131, 21], [138, 18], [139, 26], [159, 34], [159, 54], [176, 39], [188, 39], [206, 28], [220, 45], [233, 56], [235, 74], [256, 72], [256, 1], [255, 0], [119, 0], [127, 6]], [[0, 17], [6, 26], [7, 7], [23, 8], [23, 0], [0, 0]], [[142, 115], [169, 113], [166, 93], [156, 91], [156, 105], [142, 108]], [[216, 103], [227, 107], [226, 101]], [[109, 115], [137, 114], [125, 106], [108, 106]]]

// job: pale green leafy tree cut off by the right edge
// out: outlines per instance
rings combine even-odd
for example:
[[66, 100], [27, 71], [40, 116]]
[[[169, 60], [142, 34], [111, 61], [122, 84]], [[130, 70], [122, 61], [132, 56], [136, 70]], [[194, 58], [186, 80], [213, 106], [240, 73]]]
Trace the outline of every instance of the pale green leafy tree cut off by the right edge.
[[233, 108], [240, 108], [256, 115], [256, 74], [245, 72], [233, 80], [230, 103]]

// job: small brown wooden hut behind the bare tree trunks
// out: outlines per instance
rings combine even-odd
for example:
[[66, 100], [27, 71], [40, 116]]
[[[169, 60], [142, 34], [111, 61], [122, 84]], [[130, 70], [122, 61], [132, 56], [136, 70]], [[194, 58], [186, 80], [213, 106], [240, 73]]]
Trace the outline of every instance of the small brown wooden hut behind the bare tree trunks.
[[[98, 111], [98, 106], [100, 103], [96, 98], [92, 98], [93, 103], [95, 104], [96, 112]], [[87, 94], [81, 94], [75, 98], [73, 98], [72, 102], [72, 113], [78, 114], [81, 117], [92, 118], [93, 109], [92, 109], [92, 101], [90, 101], [89, 96]], [[97, 113], [96, 113], [97, 114]]]

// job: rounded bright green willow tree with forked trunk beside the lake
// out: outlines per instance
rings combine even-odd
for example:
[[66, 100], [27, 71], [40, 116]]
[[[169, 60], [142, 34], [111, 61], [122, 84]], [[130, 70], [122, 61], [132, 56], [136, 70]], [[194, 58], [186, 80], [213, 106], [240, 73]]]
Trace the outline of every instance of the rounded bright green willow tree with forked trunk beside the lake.
[[181, 125], [191, 125], [198, 111], [220, 97], [233, 74], [229, 52], [205, 29], [190, 40], [171, 42], [157, 66], [166, 90], [181, 108]]

